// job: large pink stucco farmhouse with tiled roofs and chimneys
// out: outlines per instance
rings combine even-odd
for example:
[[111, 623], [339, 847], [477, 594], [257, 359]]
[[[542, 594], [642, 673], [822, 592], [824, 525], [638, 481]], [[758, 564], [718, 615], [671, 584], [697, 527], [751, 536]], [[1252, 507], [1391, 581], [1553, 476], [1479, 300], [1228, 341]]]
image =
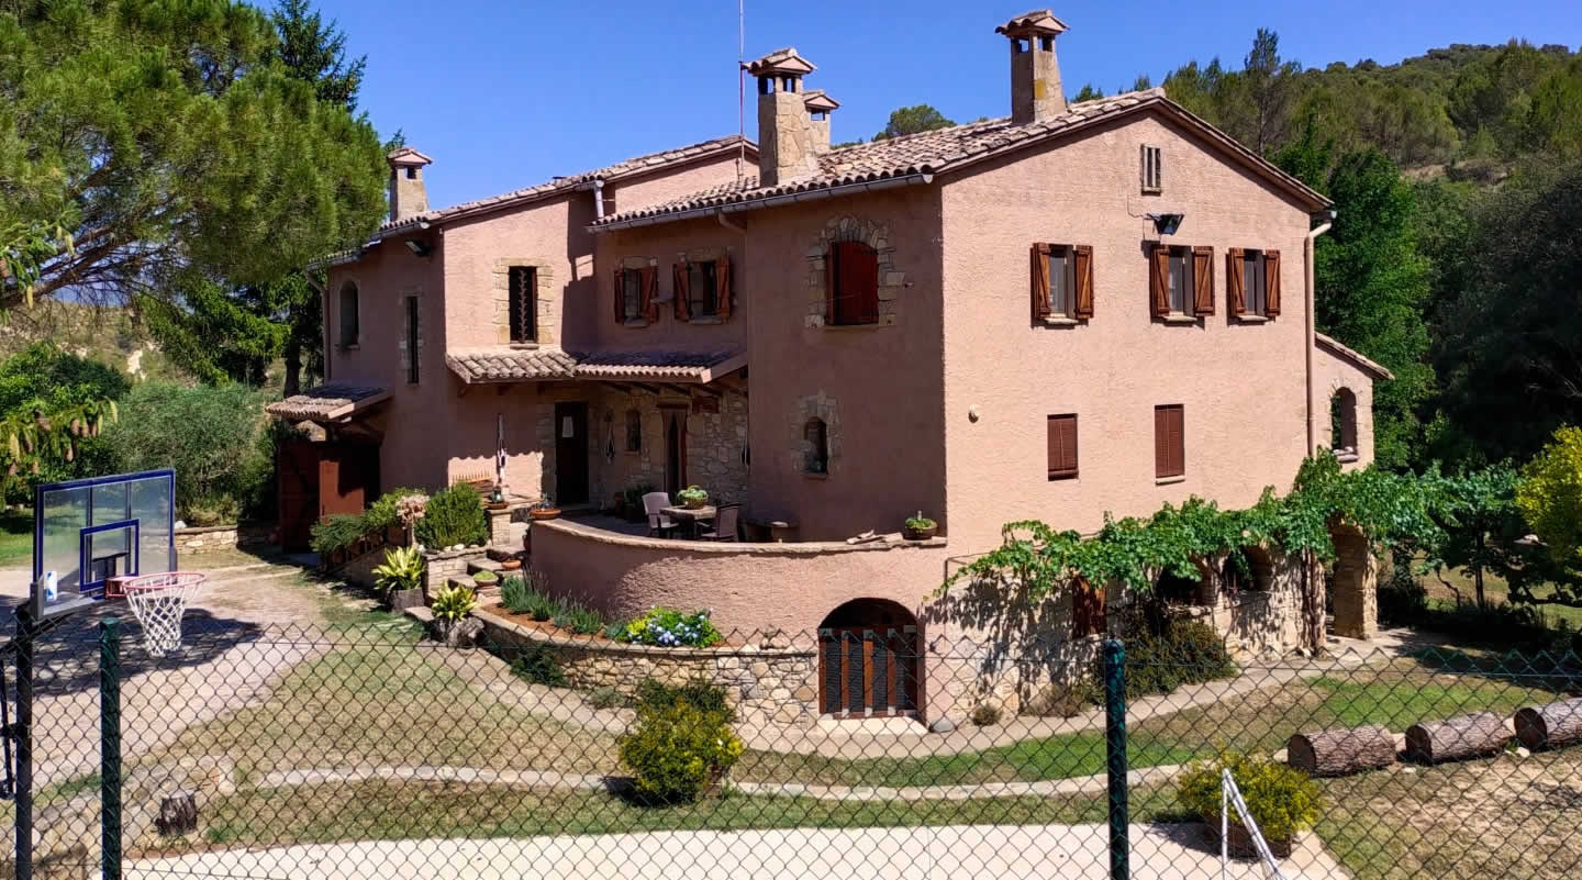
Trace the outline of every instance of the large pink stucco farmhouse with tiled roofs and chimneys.
[[[963, 51], [1009, 47], [1009, 116], [952, 128], [832, 147], [838, 81], [807, 89], [815, 65], [778, 49], [747, 71], [756, 142], [443, 209], [430, 158], [392, 152], [391, 220], [329, 269], [326, 383], [272, 410], [320, 426], [339, 497], [492, 476], [503, 451], [506, 492], [563, 511], [532, 524], [532, 568], [611, 614], [867, 627], [954, 658], [993, 627], [937, 590], [1005, 522], [1248, 506], [1316, 448], [1367, 465], [1389, 374], [1315, 332], [1329, 199], [1161, 89], [1068, 103], [1047, 9], [989, 30]], [[600, 516], [690, 484], [740, 505], [737, 540]], [[937, 535], [903, 540], [919, 513]], [[1335, 628], [1367, 638], [1372, 562], [1342, 549]], [[1300, 567], [1255, 568], [1186, 600], [1236, 651], [1289, 649]], [[1036, 625], [1095, 644], [1052, 601]], [[929, 677], [859, 706], [824, 676], [819, 704], [956, 711]]]

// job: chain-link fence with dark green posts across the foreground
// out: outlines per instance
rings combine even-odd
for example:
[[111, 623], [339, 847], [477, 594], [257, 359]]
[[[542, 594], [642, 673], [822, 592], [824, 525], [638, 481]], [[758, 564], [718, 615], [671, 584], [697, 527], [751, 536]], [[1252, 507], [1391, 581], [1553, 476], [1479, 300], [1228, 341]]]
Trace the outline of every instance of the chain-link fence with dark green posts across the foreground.
[[[28, 657], [30, 788], [6, 806], [19, 823], [30, 814], [32, 858], [3, 867], [378, 880], [1582, 872], [1574, 657], [1398, 639], [1285, 658], [1232, 658], [1193, 638], [987, 651], [884, 625], [728, 633], [707, 649], [558, 633], [490, 625], [451, 647], [397, 619], [190, 620], [184, 647], [158, 660], [131, 622], [119, 638], [92, 619], [44, 633]], [[17, 660], [6, 657], [13, 711]], [[1270, 859], [1251, 856], [1255, 826]]]

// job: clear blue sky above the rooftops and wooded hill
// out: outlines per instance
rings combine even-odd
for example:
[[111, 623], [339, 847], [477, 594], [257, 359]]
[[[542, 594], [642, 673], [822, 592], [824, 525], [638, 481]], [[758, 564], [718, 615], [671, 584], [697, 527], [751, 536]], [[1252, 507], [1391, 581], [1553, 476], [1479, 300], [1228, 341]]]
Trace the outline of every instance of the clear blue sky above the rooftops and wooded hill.
[[[267, 5], [269, 0], [258, 0]], [[1009, 112], [993, 27], [1038, 0], [745, 0], [747, 57], [796, 46], [808, 89], [843, 106], [837, 141], [930, 103], [971, 120]], [[433, 157], [435, 207], [737, 130], [736, 0], [321, 0], [351, 54], [369, 55], [362, 108]], [[1054, 11], [1068, 93], [1158, 82], [1191, 59], [1239, 68], [1258, 27], [1305, 66], [1392, 63], [1451, 43], [1582, 43], [1576, 0], [1210, 0], [1171, 6], [1068, 0]], [[747, 131], [753, 136], [748, 84]]]

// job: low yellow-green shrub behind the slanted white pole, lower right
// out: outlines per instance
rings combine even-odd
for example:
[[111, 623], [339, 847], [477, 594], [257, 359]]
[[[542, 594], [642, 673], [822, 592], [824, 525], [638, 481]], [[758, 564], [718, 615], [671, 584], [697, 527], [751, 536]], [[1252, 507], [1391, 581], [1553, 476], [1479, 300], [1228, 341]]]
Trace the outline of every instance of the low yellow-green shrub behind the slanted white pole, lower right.
[[[1305, 772], [1248, 755], [1223, 753], [1213, 761], [1193, 761], [1177, 783], [1175, 799], [1185, 810], [1218, 828], [1220, 772], [1226, 768], [1264, 837], [1289, 840], [1318, 821], [1318, 785]], [[1231, 821], [1240, 825], [1234, 814]]]

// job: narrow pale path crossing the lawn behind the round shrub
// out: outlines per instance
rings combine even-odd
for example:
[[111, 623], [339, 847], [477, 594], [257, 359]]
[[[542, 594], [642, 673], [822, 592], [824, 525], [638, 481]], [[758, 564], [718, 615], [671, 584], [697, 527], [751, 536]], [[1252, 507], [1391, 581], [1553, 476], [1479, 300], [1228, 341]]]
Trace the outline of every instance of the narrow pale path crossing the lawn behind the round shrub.
[[[1185, 769], [1182, 764], [1137, 768], [1126, 774], [1131, 787], [1160, 785], [1175, 779]], [[290, 769], [264, 774], [253, 783], [256, 788], [294, 788], [297, 785], [348, 785], [358, 782], [460, 782], [473, 785], [500, 785], [506, 788], [611, 788], [614, 780], [600, 774], [570, 774], [539, 769], [489, 769], [449, 766], [383, 766], [356, 769]], [[800, 782], [731, 782], [744, 795], [775, 795], [783, 798], [813, 798], [816, 801], [971, 801], [978, 798], [1049, 798], [1054, 795], [1099, 795], [1106, 791], [1109, 777], [1104, 774], [1076, 776], [1071, 779], [1044, 779], [1039, 782], [976, 782], [970, 785], [804, 785]]]

